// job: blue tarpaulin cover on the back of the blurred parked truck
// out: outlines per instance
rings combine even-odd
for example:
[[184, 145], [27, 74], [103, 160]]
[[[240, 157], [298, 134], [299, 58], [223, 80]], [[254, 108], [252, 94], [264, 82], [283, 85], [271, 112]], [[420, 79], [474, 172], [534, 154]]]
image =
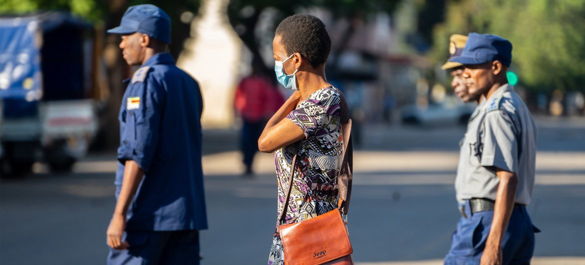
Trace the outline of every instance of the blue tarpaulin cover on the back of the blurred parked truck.
[[87, 98], [84, 39], [91, 26], [66, 12], [0, 17], [4, 116], [34, 116], [39, 100]]

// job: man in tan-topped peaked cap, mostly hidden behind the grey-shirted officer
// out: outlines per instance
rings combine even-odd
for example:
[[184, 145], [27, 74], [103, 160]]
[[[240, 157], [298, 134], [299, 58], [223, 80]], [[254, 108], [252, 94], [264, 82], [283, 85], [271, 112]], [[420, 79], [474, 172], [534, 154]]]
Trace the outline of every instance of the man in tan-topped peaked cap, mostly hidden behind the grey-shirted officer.
[[[459, 34], [451, 35], [451, 37], [449, 37], [449, 53], [451, 54], [449, 59], [460, 56], [466, 42], [467, 36]], [[449, 71], [451, 77], [453, 77], [451, 80], [451, 87], [453, 88], [453, 92], [455, 92], [455, 95], [457, 95], [457, 97], [459, 97], [463, 102], [479, 103], [480, 100], [483, 99], [481, 94], [474, 95], [473, 97], [469, 95], [469, 92], [467, 91], [467, 85], [465, 84], [465, 80], [462, 76], [463, 70], [465, 70], [463, 64], [447, 61], [445, 64], [443, 64], [443, 66], [441, 66], [441, 69]]]

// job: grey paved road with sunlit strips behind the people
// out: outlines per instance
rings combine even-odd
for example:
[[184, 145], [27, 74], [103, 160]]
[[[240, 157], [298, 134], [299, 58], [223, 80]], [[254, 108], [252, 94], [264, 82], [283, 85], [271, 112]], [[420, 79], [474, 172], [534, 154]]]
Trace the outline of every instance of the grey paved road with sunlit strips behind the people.
[[[585, 264], [585, 120], [539, 119], [535, 198], [538, 264]], [[441, 264], [459, 214], [453, 178], [464, 128], [367, 126], [356, 151], [349, 216], [358, 264]], [[235, 132], [205, 132], [210, 229], [203, 264], [265, 264], [276, 220], [273, 158], [240, 176]], [[1, 264], [104, 264], [113, 209], [113, 153], [73, 173], [0, 182]], [[551, 258], [554, 257], [554, 258]], [[562, 257], [562, 258], [557, 258]], [[576, 258], [571, 258], [576, 257]]]

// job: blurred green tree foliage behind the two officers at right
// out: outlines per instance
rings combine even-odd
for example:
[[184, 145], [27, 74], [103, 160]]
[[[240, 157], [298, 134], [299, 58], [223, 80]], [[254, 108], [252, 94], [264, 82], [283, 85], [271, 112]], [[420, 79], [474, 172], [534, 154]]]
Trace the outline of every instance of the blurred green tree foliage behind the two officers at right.
[[512, 69], [525, 87], [585, 91], [585, 0], [450, 0], [431, 58], [444, 61], [449, 36], [469, 32], [509, 39]]

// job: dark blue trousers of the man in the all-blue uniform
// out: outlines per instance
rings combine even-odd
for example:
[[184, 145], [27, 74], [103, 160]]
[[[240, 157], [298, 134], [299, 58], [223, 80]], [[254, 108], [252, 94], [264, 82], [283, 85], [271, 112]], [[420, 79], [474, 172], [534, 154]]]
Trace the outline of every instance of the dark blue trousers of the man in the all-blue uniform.
[[199, 265], [197, 230], [128, 231], [122, 240], [130, 247], [125, 250], [110, 248], [108, 265]]

